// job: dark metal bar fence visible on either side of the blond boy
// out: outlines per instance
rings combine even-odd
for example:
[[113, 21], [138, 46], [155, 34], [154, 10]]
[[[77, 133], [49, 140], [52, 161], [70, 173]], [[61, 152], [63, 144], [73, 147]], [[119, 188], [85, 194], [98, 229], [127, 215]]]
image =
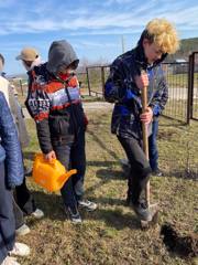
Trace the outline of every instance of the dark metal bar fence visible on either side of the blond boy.
[[[189, 56], [189, 62], [163, 63], [163, 68], [169, 91], [164, 115], [186, 124], [198, 119], [198, 52]], [[108, 74], [109, 65], [86, 68], [89, 96], [103, 97]]]

